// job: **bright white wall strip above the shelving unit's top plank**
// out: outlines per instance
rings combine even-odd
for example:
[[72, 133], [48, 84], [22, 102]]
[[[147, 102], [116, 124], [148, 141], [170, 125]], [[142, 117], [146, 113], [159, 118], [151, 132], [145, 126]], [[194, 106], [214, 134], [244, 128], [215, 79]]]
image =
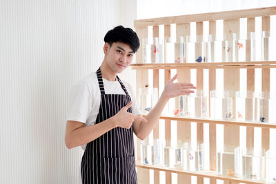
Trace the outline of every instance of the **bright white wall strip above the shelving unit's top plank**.
[[275, 0], [139, 0], [137, 19], [276, 6]]

